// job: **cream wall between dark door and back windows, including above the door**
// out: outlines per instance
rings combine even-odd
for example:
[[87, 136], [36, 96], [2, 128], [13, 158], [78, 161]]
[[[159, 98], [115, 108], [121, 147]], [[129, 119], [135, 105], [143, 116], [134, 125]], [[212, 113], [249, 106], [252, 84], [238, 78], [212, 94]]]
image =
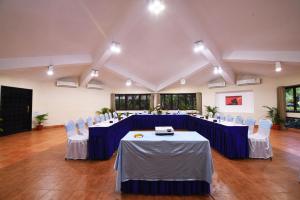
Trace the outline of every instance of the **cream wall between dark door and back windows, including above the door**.
[[110, 107], [111, 89], [92, 90], [86, 88], [56, 87], [53, 81], [38, 82], [26, 77], [1, 77], [0, 85], [33, 89], [33, 115], [49, 113], [45, 125], [61, 125], [79, 117], [94, 116], [102, 107]]

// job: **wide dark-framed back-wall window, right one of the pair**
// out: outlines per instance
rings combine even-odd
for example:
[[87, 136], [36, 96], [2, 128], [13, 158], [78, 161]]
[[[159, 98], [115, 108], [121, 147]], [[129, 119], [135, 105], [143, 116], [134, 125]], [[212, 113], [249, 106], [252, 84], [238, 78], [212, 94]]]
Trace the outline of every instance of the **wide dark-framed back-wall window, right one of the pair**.
[[195, 110], [196, 94], [161, 94], [160, 104], [163, 110]]

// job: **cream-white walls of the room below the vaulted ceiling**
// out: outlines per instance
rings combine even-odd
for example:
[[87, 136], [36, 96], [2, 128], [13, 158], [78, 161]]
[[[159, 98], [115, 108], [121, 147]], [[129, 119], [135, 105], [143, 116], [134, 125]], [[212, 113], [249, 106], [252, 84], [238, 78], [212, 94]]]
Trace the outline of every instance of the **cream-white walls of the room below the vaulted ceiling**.
[[[49, 113], [47, 125], [64, 124], [67, 120], [76, 120], [78, 117], [93, 116], [95, 111], [102, 107], [110, 107], [110, 93], [149, 93], [148, 90], [140, 87], [106, 88], [104, 90], [88, 90], [85, 88], [58, 88], [53, 81], [40, 82], [31, 81], [26, 77], [1, 76], [0, 85], [33, 89], [33, 113]], [[266, 109], [262, 106], [276, 106], [278, 86], [300, 84], [300, 74], [283, 78], [263, 77], [262, 84], [249, 86], [227, 86], [225, 88], [208, 89], [206, 85], [173, 86], [161, 93], [187, 93], [201, 92], [203, 111], [205, 105], [215, 105], [216, 93], [253, 91], [254, 112], [253, 113], [224, 113], [241, 115], [243, 117], [254, 117], [260, 119], [265, 117]], [[204, 113], [205, 114], [205, 113]], [[300, 114], [294, 116], [300, 117]]]

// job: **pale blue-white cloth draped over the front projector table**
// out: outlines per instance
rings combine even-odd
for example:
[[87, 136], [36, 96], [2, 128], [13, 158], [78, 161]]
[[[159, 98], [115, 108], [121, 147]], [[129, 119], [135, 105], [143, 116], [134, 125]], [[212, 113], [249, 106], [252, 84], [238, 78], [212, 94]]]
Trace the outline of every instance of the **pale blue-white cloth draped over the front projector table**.
[[[134, 138], [141, 133], [143, 138]], [[130, 131], [122, 140], [115, 162], [116, 190], [127, 180], [211, 183], [213, 163], [209, 141], [197, 132], [156, 136], [154, 131]]]

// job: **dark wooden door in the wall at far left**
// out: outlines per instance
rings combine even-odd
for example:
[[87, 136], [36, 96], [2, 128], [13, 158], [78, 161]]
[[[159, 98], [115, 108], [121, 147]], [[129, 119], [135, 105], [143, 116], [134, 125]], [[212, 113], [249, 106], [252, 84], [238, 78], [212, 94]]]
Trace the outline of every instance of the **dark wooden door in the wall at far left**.
[[1, 86], [4, 135], [29, 131], [32, 126], [32, 90]]

